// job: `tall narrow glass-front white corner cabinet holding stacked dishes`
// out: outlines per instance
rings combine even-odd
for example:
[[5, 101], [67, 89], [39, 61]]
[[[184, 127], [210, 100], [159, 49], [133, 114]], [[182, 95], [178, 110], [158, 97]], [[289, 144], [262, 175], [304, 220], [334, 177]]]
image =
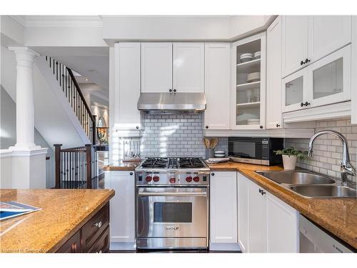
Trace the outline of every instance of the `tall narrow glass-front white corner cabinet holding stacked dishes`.
[[265, 128], [266, 34], [232, 44], [231, 129]]

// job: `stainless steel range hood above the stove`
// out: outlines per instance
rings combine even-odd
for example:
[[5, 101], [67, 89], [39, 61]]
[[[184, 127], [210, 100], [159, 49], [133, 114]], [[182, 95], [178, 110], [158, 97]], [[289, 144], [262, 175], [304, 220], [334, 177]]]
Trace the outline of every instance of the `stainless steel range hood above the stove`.
[[141, 93], [138, 109], [148, 114], [202, 113], [204, 93]]

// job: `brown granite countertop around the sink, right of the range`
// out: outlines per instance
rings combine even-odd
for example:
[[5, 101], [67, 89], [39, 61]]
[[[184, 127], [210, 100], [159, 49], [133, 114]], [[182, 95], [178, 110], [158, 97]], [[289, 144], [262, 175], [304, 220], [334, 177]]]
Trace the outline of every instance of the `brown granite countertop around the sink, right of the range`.
[[282, 170], [281, 167], [266, 167], [234, 162], [208, 164], [208, 167], [210, 167], [211, 171], [232, 170], [241, 172], [251, 181], [256, 182], [268, 192], [313, 220], [313, 222], [320, 224], [321, 227], [357, 249], [356, 198], [304, 198], [255, 172], [256, 170]]

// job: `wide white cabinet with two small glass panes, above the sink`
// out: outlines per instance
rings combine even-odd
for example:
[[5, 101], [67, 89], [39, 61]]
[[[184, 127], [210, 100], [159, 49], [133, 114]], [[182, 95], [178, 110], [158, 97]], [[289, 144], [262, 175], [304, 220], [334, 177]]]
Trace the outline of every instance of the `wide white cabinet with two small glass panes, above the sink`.
[[282, 87], [284, 112], [350, 100], [351, 45], [287, 76]]

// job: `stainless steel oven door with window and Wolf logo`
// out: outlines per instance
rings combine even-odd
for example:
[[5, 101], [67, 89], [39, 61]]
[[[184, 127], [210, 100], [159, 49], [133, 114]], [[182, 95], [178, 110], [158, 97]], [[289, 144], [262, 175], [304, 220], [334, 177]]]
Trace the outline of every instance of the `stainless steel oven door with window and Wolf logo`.
[[208, 187], [138, 187], [137, 238], [208, 236]]

